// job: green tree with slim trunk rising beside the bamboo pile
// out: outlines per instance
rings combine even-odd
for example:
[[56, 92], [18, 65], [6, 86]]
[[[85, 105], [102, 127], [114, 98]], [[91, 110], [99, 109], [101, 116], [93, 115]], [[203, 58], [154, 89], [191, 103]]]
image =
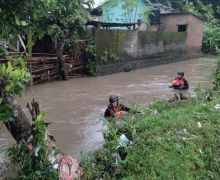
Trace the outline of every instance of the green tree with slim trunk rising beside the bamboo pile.
[[92, 1], [85, 0], [56, 0], [56, 3], [43, 11], [39, 25], [54, 40], [56, 54], [62, 69], [62, 77], [68, 79], [67, 68], [63, 59], [64, 45], [76, 40], [83, 30], [85, 22], [89, 19], [88, 10]]

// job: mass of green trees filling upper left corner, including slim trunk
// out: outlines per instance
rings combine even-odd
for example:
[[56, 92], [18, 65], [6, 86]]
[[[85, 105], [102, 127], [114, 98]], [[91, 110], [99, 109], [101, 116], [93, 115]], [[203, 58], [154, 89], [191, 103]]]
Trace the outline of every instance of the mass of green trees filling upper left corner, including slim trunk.
[[34, 41], [49, 35], [54, 40], [57, 57], [60, 61], [60, 73], [68, 79], [63, 60], [64, 46], [75, 41], [83, 31], [90, 14], [92, 0], [22, 0], [0, 1], [0, 37], [23, 40], [24, 51], [32, 55]]

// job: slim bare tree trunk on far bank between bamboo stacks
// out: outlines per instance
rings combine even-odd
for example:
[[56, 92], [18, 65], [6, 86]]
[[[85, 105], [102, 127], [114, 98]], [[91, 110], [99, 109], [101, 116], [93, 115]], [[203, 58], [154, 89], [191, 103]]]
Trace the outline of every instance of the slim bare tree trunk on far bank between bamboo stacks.
[[60, 65], [60, 72], [61, 72], [61, 76], [63, 80], [68, 80], [68, 70], [65, 64], [65, 61], [63, 59], [63, 47], [64, 47], [64, 43], [61, 40], [57, 41], [57, 57], [59, 60], [59, 65]]

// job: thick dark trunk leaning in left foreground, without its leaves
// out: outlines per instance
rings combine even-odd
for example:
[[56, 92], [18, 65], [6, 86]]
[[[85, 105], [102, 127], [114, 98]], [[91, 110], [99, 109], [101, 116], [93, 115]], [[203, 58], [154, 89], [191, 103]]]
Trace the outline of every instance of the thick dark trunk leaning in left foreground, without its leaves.
[[31, 123], [29, 119], [22, 111], [21, 106], [17, 104], [12, 94], [6, 94], [4, 96], [4, 102], [13, 115], [13, 120], [5, 122], [5, 126], [17, 142], [21, 140], [26, 142], [31, 134]]

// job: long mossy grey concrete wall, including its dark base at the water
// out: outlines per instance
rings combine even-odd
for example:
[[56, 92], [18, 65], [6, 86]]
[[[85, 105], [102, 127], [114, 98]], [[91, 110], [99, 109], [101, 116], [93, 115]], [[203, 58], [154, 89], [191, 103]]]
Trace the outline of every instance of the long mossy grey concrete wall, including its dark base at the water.
[[[97, 75], [176, 62], [186, 56], [186, 33], [97, 30]], [[105, 54], [107, 52], [108, 55]], [[114, 60], [113, 57], [117, 57]]]

